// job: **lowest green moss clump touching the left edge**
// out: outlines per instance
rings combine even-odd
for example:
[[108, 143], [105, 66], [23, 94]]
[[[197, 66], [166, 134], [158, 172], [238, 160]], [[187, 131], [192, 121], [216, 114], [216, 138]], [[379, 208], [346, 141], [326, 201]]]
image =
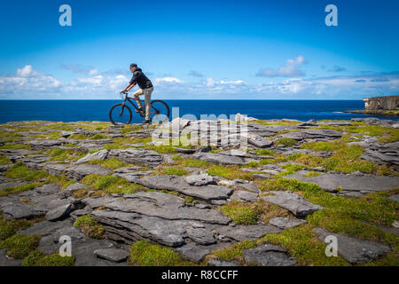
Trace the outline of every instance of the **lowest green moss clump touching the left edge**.
[[7, 256], [12, 258], [24, 258], [31, 250], [34, 250], [40, 240], [39, 236], [14, 234], [12, 237], [0, 242], [0, 249], [6, 248]]

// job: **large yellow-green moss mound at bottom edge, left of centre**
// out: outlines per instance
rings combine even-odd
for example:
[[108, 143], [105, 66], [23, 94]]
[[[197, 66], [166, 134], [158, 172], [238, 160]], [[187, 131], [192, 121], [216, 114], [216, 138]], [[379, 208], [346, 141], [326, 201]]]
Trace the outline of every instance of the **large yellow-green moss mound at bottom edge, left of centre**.
[[129, 264], [137, 266], [187, 266], [171, 248], [161, 247], [148, 241], [137, 241], [130, 248]]

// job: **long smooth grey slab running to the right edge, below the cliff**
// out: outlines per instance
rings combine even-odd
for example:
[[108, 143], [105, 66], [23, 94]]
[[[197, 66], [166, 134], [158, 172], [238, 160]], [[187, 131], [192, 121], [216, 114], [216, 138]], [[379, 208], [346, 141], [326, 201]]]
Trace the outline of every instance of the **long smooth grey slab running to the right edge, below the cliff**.
[[399, 177], [386, 177], [375, 175], [328, 174], [317, 177], [303, 177], [305, 171], [299, 170], [293, 175], [286, 176], [297, 180], [316, 183], [327, 192], [338, 192], [341, 187], [346, 192], [374, 193], [387, 191], [399, 185]]

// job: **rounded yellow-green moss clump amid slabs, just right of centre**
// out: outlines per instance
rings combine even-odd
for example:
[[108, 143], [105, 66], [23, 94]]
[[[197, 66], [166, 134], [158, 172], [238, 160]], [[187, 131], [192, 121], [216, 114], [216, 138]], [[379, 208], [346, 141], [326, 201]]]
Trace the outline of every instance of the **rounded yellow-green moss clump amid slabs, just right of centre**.
[[249, 203], [231, 201], [220, 209], [225, 216], [231, 217], [231, 220], [238, 225], [255, 225], [258, 222], [256, 211]]

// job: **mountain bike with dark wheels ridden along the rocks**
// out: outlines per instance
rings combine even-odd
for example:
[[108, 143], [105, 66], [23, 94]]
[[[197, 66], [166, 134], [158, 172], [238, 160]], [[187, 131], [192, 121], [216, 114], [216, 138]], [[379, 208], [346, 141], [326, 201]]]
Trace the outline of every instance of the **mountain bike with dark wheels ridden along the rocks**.
[[[139, 114], [141, 117], [145, 117], [145, 111], [141, 111], [138, 106], [133, 103], [132, 100], [136, 99], [129, 98], [127, 91], [121, 93], [121, 99], [123, 99], [123, 102], [121, 104], [116, 104], [115, 106], [111, 107], [111, 110], [109, 111], [109, 119], [111, 120], [111, 122], [113, 122], [113, 125], [129, 124], [131, 122], [133, 113], [130, 107], [127, 105], [127, 101], [129, 101], [130, 104], [135, 107], [135, 112], [137, 114]], [[142, 106], [145, 107], [143, 101]], [[152, 100], [150, 102], [150, 117], [152, 122], [167, 122], [169, 118], [168, 104], [160, 99]]]

